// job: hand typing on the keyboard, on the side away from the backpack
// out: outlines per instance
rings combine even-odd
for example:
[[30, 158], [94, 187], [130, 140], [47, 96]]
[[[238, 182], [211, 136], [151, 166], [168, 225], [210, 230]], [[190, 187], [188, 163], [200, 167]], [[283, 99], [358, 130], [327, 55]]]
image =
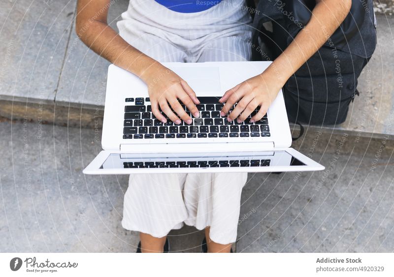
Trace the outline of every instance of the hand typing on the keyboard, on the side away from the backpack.
[[[167, 120], [164, 114], [175, 124], [180, 124], [182, 119], [186, 123], [192, 123], [191, 117], [183, 109], [179, 100], [186, 105], [194, 117], [199, 117], [196, 104], [199, 104], [196, 93], [188, 83], [170, 69], [161, 64], [150, 68], [142, 78], [148, 86], [152, 112], [163, 123]], [[179, 99], [179, 100], [178, 100]], [[171, 108], [173, 111], [171, 111]]]

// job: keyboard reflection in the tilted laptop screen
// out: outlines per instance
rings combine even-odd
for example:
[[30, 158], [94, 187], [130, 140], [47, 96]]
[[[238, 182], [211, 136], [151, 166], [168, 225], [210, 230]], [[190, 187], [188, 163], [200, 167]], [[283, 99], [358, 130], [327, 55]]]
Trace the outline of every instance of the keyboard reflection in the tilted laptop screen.
[[134, 161], [123, 162], [124, 168], [181, 168], [181, 167], [251, 167], [269, 166], [269, 159], [231, 159], [198, 161]]

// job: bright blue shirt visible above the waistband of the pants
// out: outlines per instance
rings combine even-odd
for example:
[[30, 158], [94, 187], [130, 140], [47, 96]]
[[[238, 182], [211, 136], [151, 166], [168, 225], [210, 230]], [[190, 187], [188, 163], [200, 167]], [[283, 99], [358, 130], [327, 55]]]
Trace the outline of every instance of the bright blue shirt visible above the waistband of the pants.
[[199, 12], [219, 4], [221, 0], [155, 0], [170, 10], [177, 12]]

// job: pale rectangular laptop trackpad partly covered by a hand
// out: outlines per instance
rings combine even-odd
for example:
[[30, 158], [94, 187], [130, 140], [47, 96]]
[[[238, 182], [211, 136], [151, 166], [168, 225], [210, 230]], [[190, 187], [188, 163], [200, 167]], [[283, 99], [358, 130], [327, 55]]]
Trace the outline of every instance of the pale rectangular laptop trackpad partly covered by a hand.
[[172, 67], [195, 92], [220, 92], [220, 75], [217, 66]]

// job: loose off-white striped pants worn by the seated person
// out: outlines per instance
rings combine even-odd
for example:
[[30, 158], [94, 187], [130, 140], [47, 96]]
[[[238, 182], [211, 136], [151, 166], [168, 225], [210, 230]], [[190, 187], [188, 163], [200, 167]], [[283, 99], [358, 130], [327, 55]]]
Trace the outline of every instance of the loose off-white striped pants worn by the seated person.
[[[154, 0], [131, 0], [117, 23], [133, 47], [160, 62], [249, 61], [251, 18], [244, 0], [223, 0], [196, 13]], [[183, 224], [219, 244], [236, 240], [247, 173], [135, 174], [124, 197], [122, 226], [164, 237]]]

